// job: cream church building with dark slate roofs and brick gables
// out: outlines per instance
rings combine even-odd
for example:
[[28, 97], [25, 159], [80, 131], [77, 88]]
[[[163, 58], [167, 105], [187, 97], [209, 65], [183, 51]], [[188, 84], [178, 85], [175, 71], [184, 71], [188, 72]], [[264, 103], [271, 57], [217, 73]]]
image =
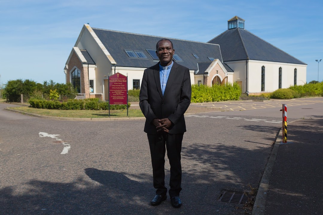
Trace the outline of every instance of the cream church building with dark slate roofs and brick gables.
[[[92, 28], [84, 24], [65, 64], [66, 83], [84, 98], [108, 100], [108, 76], [128, 76], [128, 89], [140, 89], [143, 71], [159, 62], [156, 43], [164, 37]], [[245, 30], [238, 16], [228, 30], [207, 43], [168, 38], [173, 60], [190, 70], [192, 84], [237, 82], [259, 94], [306, 83], [307, 64]]]

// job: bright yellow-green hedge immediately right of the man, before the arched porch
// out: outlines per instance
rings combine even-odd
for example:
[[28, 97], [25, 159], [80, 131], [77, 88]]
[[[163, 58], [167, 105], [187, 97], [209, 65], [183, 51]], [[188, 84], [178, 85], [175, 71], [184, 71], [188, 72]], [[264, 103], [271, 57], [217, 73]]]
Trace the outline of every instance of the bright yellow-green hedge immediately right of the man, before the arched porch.
[[242, 91], [237, 83], [224, 85], [214, 84], [212, 87], [197, 84], [192, 85], [192, 103], [219, 102], [227, 100], [239, 100]]

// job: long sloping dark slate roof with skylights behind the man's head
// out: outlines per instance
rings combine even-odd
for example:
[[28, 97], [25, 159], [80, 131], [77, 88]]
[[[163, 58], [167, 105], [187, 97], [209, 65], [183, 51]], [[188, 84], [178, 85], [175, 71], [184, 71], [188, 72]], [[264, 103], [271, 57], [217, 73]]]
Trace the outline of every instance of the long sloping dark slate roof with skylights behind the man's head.
[[[159, 36], [134, 34], [120, 31], [92, 28], [102, 44], [116, 61], [117, 66], [148, 68], [158, 62], [154, 61], [146, 49], [156, 50], [156, 43], [164, 38]], [[188, 40], [170, 39], [174, 45], [175, 54], [183, 60], [176, 61], [190, 70], [197, 70], [197, 63], [210, 61], [208, 57], [219, 59], [222, 62], [220, 46]], [[147, 59], [130, 58], [124, 50], [142, 51]], [[196, 59], [196, 54], [199, 59]], [[210, 61], [211, 63], [211, 61]]]

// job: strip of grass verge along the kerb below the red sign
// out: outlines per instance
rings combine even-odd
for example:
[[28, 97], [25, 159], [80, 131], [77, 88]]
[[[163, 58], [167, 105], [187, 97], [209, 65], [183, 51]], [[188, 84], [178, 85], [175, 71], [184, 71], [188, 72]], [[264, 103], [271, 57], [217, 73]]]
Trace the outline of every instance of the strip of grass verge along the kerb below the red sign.
[[[109, 111], [98, 110], [48, 110], [32, 107], [10, 107], [9, 109], [18, 110], [27, 113], [33, 113], [42, 116], [71, 117], [71, 118], [109, 118]], [[141, 110], [110, 110], [110, 117], [144, 117]]]

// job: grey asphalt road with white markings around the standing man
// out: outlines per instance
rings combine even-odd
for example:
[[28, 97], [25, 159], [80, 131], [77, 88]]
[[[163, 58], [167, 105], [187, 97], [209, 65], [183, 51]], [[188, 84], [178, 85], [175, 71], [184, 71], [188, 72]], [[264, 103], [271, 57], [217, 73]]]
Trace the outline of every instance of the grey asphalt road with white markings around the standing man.
[[[7, 106], [0, 103], [0, 214], [241, 214], [243, 205], [217, 198], [258, 186], [282, 118], [277, 108], [186, 116], [183, 206], [174, 209], [169, 199], [149, 204], [155, 190], [144, 120], [49, 120]], [[321, 109], [291, 107], [288, 120]]]

